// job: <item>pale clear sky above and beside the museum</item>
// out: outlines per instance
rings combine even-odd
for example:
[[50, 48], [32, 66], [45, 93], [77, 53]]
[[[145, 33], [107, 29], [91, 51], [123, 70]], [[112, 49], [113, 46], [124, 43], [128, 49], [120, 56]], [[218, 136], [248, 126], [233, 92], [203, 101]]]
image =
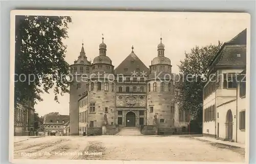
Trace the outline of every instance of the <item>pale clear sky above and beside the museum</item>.
[[[56, 14], [56, 12], [55, 12]], [[238, 13], [185, 13], [185, 12], [127, 12], [127, 11], [59, 11], [71, 16], [66, 61], [73, 64], [81, 51], [82, 42], [88, 60], [99, 54], [99, 44], [106, 44], [106, 55], [115, 68], [131, 53], [146, 66], [157, 56], [157, 45], [165, 45], [165, 56], [172, 62], [172, 72], [178, 73], [180, 60], [196, 45], [205, 46], [228, 41], [249, 27], [247, 14]], [[69, 94], [54, 101], [53, 90], [41, 94], [44, 101], [35, 105], [35, 111], [44, 115], [50, 112], [69, 114]]]

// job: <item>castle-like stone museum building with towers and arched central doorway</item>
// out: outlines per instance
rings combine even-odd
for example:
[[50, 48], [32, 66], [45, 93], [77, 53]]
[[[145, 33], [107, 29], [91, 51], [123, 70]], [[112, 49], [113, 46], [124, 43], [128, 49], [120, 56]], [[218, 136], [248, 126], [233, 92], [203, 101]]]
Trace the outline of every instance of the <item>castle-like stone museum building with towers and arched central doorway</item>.
[[115, 69], [103, 39], [93, 62], [88, 61], [82, 44], [71, 65], [70, 135], [83, 134], [87, 128], [100, 129], [103, 124], [119, 128], [157, 124], [162, 131], [187, 128], [189, 120], [179, 118], [178, 106], [173, 103], [174, 74], [162, 38], [149, 68], [132, 46], [132, 52]]

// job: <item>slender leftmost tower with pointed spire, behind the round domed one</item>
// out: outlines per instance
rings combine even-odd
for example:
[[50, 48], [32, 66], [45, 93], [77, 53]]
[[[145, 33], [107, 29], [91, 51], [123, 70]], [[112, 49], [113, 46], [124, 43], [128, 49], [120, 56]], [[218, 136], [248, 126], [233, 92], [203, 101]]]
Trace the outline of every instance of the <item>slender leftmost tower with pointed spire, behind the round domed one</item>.
[[89, 84], [86, 77], [91, 72], [91, 62], [87, 60], [86, 53], [84, 52], [83, 43], [80, 55], [78, 59], [74, 61], [74, 64], [70, 65], [71, 84], [70, 84], [70, 135], [78, 135], [79, 125], [79, 111], [78, 111], [78, 99], [82, 96], [82, 93], [89, 89]]

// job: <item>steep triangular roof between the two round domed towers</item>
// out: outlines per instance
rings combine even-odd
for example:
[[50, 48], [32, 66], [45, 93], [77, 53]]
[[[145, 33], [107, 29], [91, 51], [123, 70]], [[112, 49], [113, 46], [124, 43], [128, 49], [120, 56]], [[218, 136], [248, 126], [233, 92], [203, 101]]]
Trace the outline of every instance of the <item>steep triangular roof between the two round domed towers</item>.
[[[137, 71], [137, 68], [139, 71]], [[115, 74], [132, 75], [134, 71], [138, 72], [137, 75], [140, 75], [140, 72], [143, 71], [147, 75], [150, 74], [150, 69], [132, 52], [116, 67], [114, 72]]]

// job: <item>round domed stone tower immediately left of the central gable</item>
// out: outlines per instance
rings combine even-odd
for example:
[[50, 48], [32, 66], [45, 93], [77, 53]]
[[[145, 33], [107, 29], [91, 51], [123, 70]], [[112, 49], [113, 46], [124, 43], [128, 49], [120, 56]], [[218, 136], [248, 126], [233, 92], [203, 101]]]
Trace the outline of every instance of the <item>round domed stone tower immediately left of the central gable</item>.
[[106, 44], [102, 37], [102, 43], [99, 44], [99, 55], [93, 60], [92, 75], [89, 79], [89, 105], [93, 105], [95, 108], [89, 110], [88, 122], [94, 122], [93, 127], [95, 128], [102, 126], [105, 114], [108, 124], [115, 123], [116, 89], [113, 72], [114, 66], [112, 60], [106, 56]]

